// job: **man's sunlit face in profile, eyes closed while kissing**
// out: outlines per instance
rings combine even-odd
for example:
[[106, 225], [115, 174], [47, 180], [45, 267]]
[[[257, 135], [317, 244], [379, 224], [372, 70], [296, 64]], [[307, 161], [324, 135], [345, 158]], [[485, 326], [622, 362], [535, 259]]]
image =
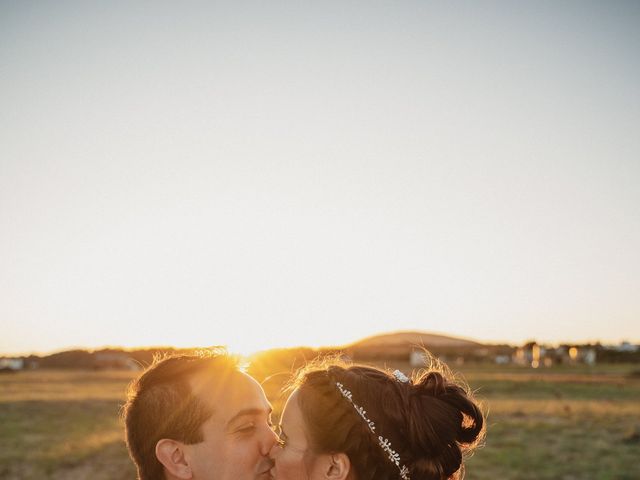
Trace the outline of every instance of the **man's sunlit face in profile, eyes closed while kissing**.
[[196, 377], [191, 383], [214, 411], [202, 425], [204, 440], [185, 445], [193, 480], [267, 480], [276, 435], [262, 387], [237, 372], [222, 382]]

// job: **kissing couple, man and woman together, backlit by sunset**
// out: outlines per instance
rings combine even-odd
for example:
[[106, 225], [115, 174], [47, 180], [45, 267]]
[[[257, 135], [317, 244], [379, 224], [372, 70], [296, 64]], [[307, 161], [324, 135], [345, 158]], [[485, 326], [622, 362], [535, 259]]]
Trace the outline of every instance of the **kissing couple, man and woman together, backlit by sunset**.
[[157, 360], [129, 387], [139, 480], [449, 480], [484, 435], [468, 390], [442, 368], [316, 361], [292, 378], [280, 423], [224, 352]]

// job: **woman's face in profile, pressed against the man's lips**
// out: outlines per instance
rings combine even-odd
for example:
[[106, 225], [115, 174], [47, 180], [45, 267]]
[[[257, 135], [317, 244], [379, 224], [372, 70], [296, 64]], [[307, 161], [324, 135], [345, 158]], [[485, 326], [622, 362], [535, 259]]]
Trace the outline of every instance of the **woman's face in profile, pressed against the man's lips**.
[[309, 450], [302, 411], [298, 406], [298, 390], [288, 398], [280, 421], [280, 445], [271, 449], [275, 465], [271, 476], [275, 480], [316, 480], [322, 478], [321, 455]]

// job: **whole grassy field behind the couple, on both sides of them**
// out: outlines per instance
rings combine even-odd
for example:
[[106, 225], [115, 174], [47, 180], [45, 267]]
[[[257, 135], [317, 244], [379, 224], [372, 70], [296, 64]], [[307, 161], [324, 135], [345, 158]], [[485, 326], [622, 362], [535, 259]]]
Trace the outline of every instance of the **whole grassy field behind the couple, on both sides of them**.
[[[640, 478], [638, 369], [463, 367], [461, 375], [488, 412], [486, 443], [468, 460], [466, 478]], [[267, 370], [254, 373], [276, 374], [264, 385], [278, 408], [288, 375], [273, 366]], [[0, 375], [0, 478], [134, 479], [119, 420], [133, 375]]]

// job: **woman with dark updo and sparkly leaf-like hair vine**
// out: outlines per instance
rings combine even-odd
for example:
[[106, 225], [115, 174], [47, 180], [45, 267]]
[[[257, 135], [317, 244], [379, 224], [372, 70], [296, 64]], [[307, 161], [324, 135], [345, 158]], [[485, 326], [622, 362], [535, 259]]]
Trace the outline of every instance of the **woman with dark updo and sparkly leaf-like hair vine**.
[[293, 382], [271, 451], [275, 480], [445, 480], [484, 436], [470, 394], [442, 368], [396, 370], [330, 361]]

